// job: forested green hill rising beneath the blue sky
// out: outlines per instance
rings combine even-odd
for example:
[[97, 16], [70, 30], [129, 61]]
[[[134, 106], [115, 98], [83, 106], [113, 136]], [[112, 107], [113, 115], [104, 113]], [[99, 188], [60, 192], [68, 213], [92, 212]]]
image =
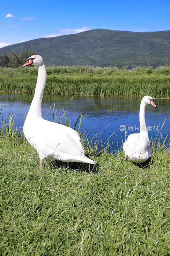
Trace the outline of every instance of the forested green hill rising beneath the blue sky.
[[170, 30], [129, 32], [93, 29], [79, 34], [40, 38], [0, 49], [22, 52], [32, 49], [48, 66], [137, 66], [170, 65]]

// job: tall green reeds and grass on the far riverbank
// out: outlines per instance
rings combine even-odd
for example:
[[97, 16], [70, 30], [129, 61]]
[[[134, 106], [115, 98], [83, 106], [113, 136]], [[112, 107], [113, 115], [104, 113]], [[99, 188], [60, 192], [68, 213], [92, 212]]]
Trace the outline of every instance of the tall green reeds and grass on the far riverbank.
[[[33, 93], [37, 69], [0, 68], [1, 92]], [[47, 67], [45, 93], [67, 95], [144, 96], [169, 98], [168, 67], [126, 68]]]

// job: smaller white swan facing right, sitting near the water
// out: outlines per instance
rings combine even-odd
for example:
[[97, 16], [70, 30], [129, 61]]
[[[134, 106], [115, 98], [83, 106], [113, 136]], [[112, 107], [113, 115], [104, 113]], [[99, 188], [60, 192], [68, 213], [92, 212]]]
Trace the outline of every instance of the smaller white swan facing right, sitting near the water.
[[125, 161], [128, 156], [130, 160], [135, 163], [144, 163], [152, 155], [148, 131], [144, 118], [146, 104], [151, 104], [156, 108], [154, 100], [151, 96], [143, 97], [139, 111], [140, 133], [130, 134], [128, 139], [123, 143]]

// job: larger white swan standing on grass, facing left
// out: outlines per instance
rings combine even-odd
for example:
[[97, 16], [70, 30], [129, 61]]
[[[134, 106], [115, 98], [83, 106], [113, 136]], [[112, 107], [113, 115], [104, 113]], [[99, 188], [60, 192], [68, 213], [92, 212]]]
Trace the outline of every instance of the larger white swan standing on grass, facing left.
[[62, 124], [49, 122], [42, 118], [41, 102], [46, 85], [46, 68], [40, 55], [33, 55], [23, 65], [34, 65], [38, 69], [37, 84], [34, 97], [26, 116], [23, 132], [40, 157], [40, 170], [43, 159], [60, 160], [63, 162], [82, 162], [95, 164], [85, 157], [84, 148], [78, 133]]

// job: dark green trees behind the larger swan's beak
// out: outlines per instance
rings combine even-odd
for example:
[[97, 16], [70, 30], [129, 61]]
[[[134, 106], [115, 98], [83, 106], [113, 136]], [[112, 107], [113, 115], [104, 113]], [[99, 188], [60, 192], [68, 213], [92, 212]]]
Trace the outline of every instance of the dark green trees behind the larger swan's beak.
[[0, 55], [0, 66], [7, 68], [17, 68], [23, 65], [27, 59], [34, 55], [33, 50], [23, 51], [20, 53], [8, 52], [7, 54]]

